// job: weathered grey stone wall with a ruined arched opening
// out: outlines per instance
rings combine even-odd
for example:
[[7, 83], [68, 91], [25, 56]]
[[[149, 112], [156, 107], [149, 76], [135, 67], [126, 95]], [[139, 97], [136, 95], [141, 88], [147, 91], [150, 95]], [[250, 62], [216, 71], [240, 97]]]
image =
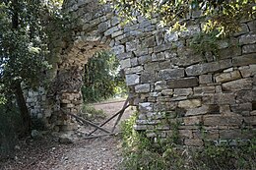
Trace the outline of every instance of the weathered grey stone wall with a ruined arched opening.
[[166, 138], [174, 131], [172, 124], [178, 124], [180, 142], [186, 145], [253, 137], [255, 20], [241, 22], [240, 32], [217, 41], [217, 57], [211, 49], [201, 54], [189, 45], [202, 29], [198, 14], [189, 16], [187, 30], [169, 33], [158, 26], [157, 18], [138, 17], [122, 27], [110, 6], [102, 7], [96, 0], [66, 0], [64, 10], [74, 19], [72, 38], [59, 47], [47, 96], [30, 91], [28, 97], [32, 114], [49, 128], [72, 129], [72, 120], [59, 111], [80, 110], [84, 64], [97, 50], [110, 47], [125, 71], [132, 104], [139, 108], [136, 130]]

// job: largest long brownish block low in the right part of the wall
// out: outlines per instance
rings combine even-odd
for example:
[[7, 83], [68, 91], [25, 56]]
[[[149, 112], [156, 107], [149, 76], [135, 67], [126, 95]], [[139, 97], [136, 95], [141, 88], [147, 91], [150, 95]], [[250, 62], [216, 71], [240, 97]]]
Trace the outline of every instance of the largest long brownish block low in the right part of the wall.
[[238, 114], [228, 113], [224, 115], [205, 115], [203, 116], [205, 126], [241, 126], [243, 117]]

